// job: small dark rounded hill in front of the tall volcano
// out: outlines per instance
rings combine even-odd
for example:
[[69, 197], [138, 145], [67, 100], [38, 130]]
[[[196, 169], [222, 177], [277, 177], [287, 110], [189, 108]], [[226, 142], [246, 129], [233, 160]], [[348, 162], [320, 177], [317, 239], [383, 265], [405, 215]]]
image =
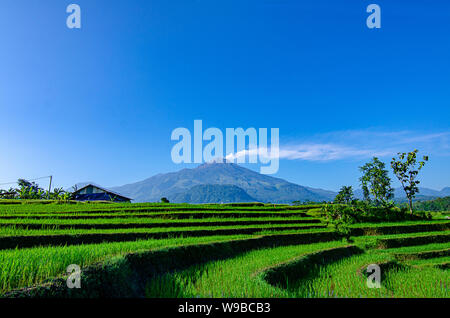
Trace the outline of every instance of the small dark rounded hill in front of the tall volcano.
[[233, 203], [255, 202], [243, 189], [229, 184], [201, 184], [184, 193], [174, 194], [169, 198], [173, 203]]

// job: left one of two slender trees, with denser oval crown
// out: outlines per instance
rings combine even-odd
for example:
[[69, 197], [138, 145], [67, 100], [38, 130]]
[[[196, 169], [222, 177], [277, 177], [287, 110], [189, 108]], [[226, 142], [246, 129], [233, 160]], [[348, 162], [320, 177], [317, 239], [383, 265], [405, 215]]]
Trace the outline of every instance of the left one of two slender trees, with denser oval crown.
[[373, 196], [375, 204], [388, 205], [388, 201], [394, 196], [394, 190], [391, 187], [391, 179], [388, 171], [385, 169], [384, 162], [377, 157], [373, 157], [372, 161], [359, 167], [363, 173], [359, 178], [361, 187], [366, 201], [371, 201]]

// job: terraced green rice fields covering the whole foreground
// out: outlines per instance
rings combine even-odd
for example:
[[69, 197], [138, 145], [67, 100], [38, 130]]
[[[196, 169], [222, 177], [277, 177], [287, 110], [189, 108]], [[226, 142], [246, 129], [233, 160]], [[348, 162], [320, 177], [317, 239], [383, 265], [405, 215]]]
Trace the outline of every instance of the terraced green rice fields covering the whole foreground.
[[[19, 203], [0, 201], [3, 297], [450, 296], [443, 213], [353, 224], [344, 239], [320, 205]], [[64, 284], [71, 264], [80, 291]]]

